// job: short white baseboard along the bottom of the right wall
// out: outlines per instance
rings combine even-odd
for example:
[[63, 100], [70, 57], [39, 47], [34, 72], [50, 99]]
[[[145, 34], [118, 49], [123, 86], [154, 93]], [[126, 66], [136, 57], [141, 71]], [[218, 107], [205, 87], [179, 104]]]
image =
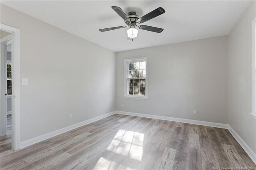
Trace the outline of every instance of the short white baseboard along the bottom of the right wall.
[[228, 125], [228, 130], [234, 136], [237, 142], [242, 146], [248, 156], [250, 156], [254, 164], [256, 164], [256, 154], [253, 152], [253, 150], [246, 144], [246, 142], [244, 142], [244, 140], [236, 133], [236, 131], [230, 125]]

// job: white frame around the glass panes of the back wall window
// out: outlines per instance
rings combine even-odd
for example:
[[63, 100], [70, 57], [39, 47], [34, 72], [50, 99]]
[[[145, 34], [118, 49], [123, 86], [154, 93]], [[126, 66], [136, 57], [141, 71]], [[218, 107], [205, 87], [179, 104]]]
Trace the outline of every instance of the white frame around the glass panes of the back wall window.
[[[146, 61], [146, 89], [145, 96], [129, 95], [129, 63]], [[135, 78], [136, 79], [136, 78]], [[140, 78], [138, 78], [140, 79]], [[130, 58], [124, 60], [124, 98], [130, 99], [148, 99], [148, 57]]]

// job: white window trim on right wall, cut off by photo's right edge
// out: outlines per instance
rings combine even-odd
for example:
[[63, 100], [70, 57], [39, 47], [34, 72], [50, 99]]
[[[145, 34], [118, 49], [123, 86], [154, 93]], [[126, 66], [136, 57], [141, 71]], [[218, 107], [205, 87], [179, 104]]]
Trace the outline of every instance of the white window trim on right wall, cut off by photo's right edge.
[[252, 117], [256, 118], [256, 18], [252, 21]]

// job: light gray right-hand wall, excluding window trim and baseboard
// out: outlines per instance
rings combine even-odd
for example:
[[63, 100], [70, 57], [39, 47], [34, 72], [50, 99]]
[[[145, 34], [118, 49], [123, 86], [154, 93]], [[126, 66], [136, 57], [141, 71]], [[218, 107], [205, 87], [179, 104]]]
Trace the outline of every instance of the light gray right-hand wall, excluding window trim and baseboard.
[[256, 119], [252, 112], [253, 1], [228, 35], [228, 123], [256, 153]]

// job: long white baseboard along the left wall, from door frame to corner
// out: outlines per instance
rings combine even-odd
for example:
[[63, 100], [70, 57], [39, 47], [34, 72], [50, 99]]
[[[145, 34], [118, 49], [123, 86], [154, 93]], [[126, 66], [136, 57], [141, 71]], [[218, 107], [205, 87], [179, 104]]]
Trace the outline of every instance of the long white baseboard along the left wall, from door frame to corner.
[[36, 144], [36, 143], [41, 142], [43, 140], [46, 140], [48, 138], [52, 138], [54, 136], [57, 136], [59, 134], [65, 133], [65, 132], [68, 132], [68, 131], [73, 130], [75, 128], [82, 127], [82, 126], [87, 125], [89, 123], [98, 121], [100, 119], [103, 119], [103, 118], [111, 116], [111, 115], [114, 115], [115, 113], [116, 113], [116, 111], [113, 111], [113, 112], [110, 112], [110, 113], [106, 113], [104, 115], [101, 115], [101, 116], [98, 116], [98, 117], [94, 117], [92, 119], [88, 119], [86, 121], [82, 121], [80, 123], [76, 123], [74, 125], [70, 125], [68, 127], [64, 127], [64, 128], [55, 130], [53, 132], [49, 132], [49, 133], [37, 136], [37, 137], [32, 138], [32, 139], [25, 140], [23, 142], [20, 142], [20, 148], [25, 148], [25, 147], [30, 146], [32, 144]]

